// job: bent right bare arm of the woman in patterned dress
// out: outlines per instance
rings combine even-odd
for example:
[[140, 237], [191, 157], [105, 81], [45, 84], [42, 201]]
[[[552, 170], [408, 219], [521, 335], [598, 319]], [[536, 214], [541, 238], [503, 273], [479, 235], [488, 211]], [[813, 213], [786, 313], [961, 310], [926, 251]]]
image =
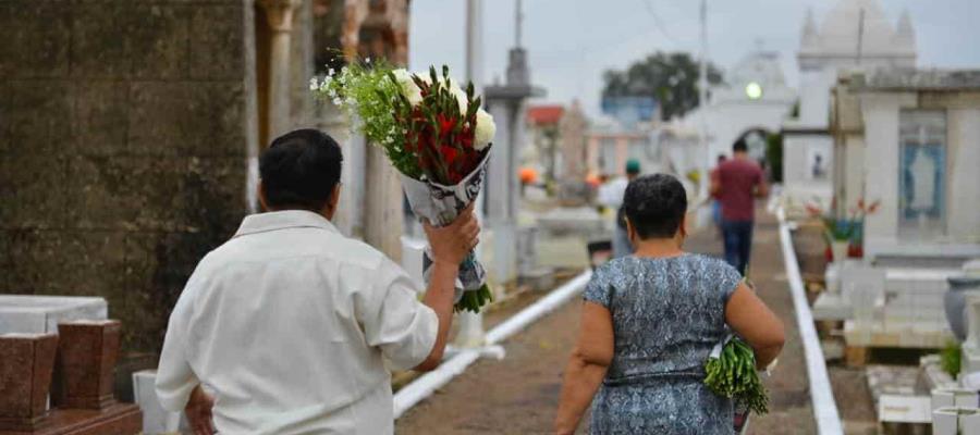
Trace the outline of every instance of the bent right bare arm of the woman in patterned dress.
[[775, 360], [786, 340], [783, 322], [745, 283], [738, 285], [725, 306], [728, 326], [756, 351], [756, 366]]

